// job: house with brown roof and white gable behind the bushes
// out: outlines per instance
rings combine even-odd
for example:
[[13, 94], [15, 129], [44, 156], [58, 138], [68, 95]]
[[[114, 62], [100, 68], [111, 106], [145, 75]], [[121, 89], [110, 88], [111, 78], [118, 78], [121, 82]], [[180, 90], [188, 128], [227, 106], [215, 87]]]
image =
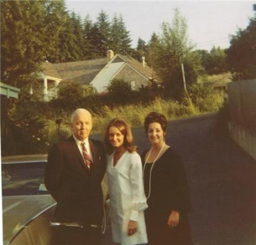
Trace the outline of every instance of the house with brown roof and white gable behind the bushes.
[[43, 79], [44, 100], [57, 97], [60, 83], [65, 81], [81, 82], [82, 85], [94, 86], [98, 93], [108, 92], [108, 86], [113, 79], [123, 79], [129, 82], [133, 90], [150, 85], [150, 80], [156, 78], [154, 70], [130, 56], [115, 54], [112, 50], [106, 52], [105, 58], [95, 60], [51, 64], [44, 62]]

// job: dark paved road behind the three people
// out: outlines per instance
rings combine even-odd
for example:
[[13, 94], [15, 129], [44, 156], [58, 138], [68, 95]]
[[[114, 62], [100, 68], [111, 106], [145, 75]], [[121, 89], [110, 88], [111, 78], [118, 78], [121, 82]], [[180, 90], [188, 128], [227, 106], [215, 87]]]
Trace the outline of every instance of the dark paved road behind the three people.
[[[140, 152], [149, 147], [144, 129], [133, 135]], [[217, 115], [169, 122], [166, 141], [187, 171], [194, 244], [255, 245], [256, 162], [230, 139]]]

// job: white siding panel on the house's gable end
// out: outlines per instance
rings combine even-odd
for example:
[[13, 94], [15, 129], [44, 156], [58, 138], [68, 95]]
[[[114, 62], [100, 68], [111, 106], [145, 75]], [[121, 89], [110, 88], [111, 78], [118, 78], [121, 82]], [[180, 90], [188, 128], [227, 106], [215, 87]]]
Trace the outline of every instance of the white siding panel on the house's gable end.
[[90, 82], [98, 92], [106, 92], [110, 79], [122, 67], [125, 62], [111, 63], [104, 67], [101, 72]]

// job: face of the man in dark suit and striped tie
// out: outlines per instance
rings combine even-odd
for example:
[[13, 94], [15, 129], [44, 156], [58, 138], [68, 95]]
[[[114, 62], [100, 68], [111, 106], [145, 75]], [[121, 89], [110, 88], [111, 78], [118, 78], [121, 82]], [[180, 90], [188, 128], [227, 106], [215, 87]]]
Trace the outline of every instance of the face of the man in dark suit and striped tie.
[[90, 134], [92, 130], [92, 116], [89, 112], [78, 113], [71, 123], [71, 128], [75, 137], [84, 141]]

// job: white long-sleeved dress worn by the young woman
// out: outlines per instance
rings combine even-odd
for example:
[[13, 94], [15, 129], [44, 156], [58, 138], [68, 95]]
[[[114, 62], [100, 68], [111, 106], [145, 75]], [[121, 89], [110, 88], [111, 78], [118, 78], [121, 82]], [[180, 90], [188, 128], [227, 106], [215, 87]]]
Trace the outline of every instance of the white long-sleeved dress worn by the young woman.
[[[110, 206], [113, 240], [122, 245], [147, 243], [144, 210], [147, 208], [139, 154], [126, 151], [113, 166], [113, 156], [108, 158]], [[137, 221], [137, 233], [127, 235], [129, 220]]]

